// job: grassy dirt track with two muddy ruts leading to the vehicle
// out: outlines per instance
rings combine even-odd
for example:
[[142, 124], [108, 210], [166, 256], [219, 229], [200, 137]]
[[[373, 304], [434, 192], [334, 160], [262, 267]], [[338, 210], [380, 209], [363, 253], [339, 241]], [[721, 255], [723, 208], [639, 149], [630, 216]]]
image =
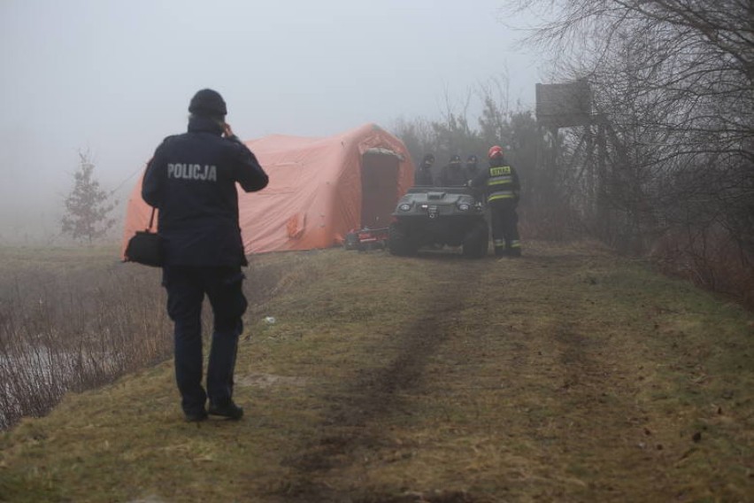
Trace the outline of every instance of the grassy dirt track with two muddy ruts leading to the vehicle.
[[[676, 384], [655, 382], [668, 363], [652, 338], [662, 307], [600, 306], [619, 293], [600, 284], [611, 258], [407, 260], [425, 261], [424, 283], [406, 289], [414, 315], [360, 348], [363, 360], [350, 362], [359, 369], [328, 387], [318, 436], [286, 460], [283, 500], [699, 497], [699, 480], [673, 475], [704, 454], [686, 417], [698, 411], [673, 409], [664, 393]], [[702, 484], [724, 478], [708, 472]]]

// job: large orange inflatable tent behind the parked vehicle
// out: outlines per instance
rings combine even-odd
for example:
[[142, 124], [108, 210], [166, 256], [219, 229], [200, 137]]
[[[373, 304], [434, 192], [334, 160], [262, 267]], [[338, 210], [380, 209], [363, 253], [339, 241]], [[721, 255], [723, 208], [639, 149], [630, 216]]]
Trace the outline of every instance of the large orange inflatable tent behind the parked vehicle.
[[[325, 138], [269, 135], [246, 144], [270, 177], [264, 190], [239, 189], [247, 254], [327, 248], [351, 229], [387, 227], [413, 183], [404, 143], [374, 124]], [[140, 180], [128, 200], [124, 250], [150, 219], [141, 191]]]

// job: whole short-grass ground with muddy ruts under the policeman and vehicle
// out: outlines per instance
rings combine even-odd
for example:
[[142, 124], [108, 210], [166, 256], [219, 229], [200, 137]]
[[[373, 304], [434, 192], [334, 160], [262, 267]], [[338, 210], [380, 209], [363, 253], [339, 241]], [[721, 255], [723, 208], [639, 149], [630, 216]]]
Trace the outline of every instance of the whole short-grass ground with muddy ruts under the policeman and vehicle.
[[[157, 275], [97, 256], [92, 281], [121, 267], [161, 302]], [[754, 494], [754, 316], [641, 261], [593, 244], [513, 260], [334, 249], [258, 256], [247, 275], [242, 422], [183, 422], [159, 362], [5, 432], [0, 500]]]

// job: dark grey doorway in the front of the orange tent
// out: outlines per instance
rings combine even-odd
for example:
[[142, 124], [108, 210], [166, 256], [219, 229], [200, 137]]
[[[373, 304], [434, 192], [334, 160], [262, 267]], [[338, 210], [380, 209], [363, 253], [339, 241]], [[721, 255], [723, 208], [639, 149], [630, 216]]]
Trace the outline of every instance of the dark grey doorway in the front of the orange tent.
[[400, 158], [386, 149], [370, 149], [361, 158], [361, 227], [387, 227], [398, 201]]

